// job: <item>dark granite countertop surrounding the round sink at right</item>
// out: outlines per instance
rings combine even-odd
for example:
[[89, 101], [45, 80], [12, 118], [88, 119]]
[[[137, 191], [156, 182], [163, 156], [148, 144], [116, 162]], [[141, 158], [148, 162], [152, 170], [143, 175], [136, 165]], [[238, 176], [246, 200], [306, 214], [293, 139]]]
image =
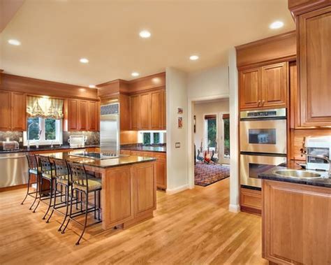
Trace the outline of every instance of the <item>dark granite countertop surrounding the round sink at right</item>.
[[[274, 171], [281, 170], [281, 169], [300, 170], [301, 166], [299, 166], [297, 164], [297, 162], [291, 160], [288, 163], [280, 164], [279, 166], [274, 166], [272, 169], [269, 169], [263, 173], [259, 173], [258, 178], [261, 178], [264, 180], [276, 180], [276, 181], [292, 182], [292, 183], [303, 184], [303, 185], [331, 188], [331, 178], [328, 178], [327, 171], [317, 171], [317, 173], [321, 174], [321, 176], [323, 176], [323, 178], [316, 178], [316, 179], [309, 180], [309, 179], [302, 179], [302, 178], [289, 178], [289, 177], [285, 177], [285, 176], [279, 176], [274, 173]], [[309, 170], [309, 171], [311, 171], [311, 170]]]

